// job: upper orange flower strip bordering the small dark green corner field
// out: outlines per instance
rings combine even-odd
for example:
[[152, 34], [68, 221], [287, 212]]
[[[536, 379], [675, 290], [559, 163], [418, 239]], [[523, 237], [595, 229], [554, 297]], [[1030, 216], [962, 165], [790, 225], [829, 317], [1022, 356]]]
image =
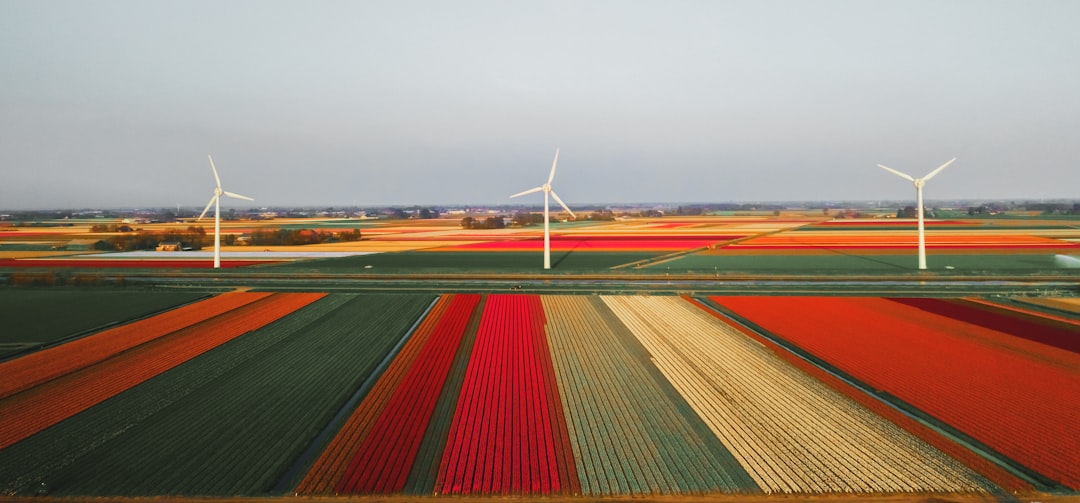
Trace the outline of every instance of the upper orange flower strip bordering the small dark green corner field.
[[[229, 293], [0, 364], [0, 398], [96, 364], [270, 294]], [[57, 313], [60, 315], [60, 313]]]

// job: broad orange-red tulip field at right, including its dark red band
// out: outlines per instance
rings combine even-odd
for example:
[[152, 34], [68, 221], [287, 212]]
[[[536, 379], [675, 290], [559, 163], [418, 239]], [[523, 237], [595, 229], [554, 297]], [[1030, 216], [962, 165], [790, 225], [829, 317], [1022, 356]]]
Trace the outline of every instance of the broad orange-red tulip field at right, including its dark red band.
[[942, 299], [713, 300], [1009, 459], [1080, 488], [1080, 325], [1012, 317], [990, 328], [981, 321], [1011, 314]]

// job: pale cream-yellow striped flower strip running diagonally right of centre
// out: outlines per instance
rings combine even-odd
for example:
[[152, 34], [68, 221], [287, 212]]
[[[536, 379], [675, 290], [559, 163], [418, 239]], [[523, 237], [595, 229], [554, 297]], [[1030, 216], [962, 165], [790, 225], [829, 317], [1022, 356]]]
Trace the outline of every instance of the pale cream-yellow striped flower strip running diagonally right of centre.
[[604, 300], [766, 492], [967, 492], [989, 486], [683, 299]]

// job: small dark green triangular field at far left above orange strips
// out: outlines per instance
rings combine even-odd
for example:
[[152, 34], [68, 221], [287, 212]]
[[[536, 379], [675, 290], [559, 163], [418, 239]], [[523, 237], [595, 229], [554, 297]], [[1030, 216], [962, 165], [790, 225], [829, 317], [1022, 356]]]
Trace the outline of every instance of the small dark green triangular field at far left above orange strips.
[[117, 289], [0, 289], [0, 359], [206, 297]]

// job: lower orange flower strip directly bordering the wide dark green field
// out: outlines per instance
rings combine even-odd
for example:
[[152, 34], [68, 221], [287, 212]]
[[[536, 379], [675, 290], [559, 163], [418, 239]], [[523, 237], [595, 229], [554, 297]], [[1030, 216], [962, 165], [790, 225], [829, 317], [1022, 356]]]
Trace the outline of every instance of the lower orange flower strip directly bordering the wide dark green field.
[[276, 294], [4, 398], [0, 449], [323, 296]]

